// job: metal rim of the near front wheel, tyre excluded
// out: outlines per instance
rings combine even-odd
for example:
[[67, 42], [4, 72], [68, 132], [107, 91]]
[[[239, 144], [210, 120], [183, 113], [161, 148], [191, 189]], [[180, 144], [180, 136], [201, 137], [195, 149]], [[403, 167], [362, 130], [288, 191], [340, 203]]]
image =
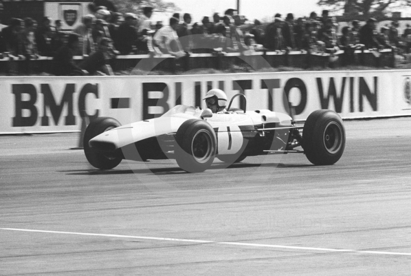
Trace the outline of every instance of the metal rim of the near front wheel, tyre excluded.
[[212, 137], [208, 131], [198, 131], [192, 140], [191, 150], [194, 159], [199, 163], [205, 163], [211, 158], [213, 151]]

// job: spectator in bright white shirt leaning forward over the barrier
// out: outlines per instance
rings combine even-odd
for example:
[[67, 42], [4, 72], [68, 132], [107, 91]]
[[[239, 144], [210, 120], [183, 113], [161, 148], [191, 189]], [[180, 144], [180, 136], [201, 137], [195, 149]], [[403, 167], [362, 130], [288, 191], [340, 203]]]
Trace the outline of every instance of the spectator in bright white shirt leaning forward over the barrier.
[[170, 26], [164, 26], [154, 35], [154, 43], [163, 53], [169, 53], [177, 58], [185, 56], [177, 35], [178, 19], [170, 18]]

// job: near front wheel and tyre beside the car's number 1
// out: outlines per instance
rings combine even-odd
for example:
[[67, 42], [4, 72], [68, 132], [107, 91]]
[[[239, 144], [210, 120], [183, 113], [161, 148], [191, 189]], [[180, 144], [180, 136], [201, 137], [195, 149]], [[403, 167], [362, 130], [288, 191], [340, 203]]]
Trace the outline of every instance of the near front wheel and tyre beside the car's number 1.
[[210, 168], [217, 151], [217, 138], [211, 125], [203, 120], [185, 121], [176, 133], [175, 156], [181, 169], [199, 173]]

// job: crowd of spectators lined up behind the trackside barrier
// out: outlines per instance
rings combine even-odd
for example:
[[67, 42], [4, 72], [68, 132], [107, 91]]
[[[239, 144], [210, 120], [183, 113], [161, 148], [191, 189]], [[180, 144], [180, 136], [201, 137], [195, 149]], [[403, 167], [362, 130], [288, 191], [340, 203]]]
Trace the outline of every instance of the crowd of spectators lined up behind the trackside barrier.
[[[339, 30], [335, 17], [324, 10], [321, 16], [312, 12], [308, 17], [294, 19], [288, 13], [283, 19], [279, 13], [272, 22], [262, 24], [255, 20], [249, 23], [244, 16], [228, 9], [223, 15], [214, 13], [204, 16], [201, 22], [192, 22], [189, 13], [175, 13], [163, 26], [151, 20], [152, 7], [143, 7], [142, 14], [121, 14], [107, 7], [95, 8], [94, 12], [82, 18], [82, 23], [71, 32], [61, 30], [61, 21], [44, 17], [38, 23], [27, 17], [12, 19], [0, 35], [1, 56], [24, 60], [39, 56], [53, 57], [57, 75], [84, 75], [86, 73], [113, 74], [108, 60], [117, 54], [168, 53], [177, 58], [190, 53], [322, 51], [335, 53], [344, 50], [348, 61], [356, 49], [399, 48], [409, 52], [411, 28], [408, 26], [402, 36], [398, 23], [376, 29], [377, 21], [370, 18], [360, 26], [359, 21]], [[341, 32], [341, 35], [338, 33]], [[1, 58], [0, 56], [0, 58]], [[73, 56], [85, 58], [76, 65]], [[351, 57], [352, 58], [352, 57]], [[99, 64], [99, 66], [91, 64]], [[86, 64], [86, 65], [84, 65]], [[103, 69], [100, 70], [100, 67]]]

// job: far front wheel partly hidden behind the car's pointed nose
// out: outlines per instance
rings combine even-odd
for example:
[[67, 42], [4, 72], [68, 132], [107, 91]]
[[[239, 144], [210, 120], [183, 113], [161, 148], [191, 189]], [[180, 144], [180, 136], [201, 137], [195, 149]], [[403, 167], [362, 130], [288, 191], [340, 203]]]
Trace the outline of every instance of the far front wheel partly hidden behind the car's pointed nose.
[[93, 167], [101, 170], [109, 170], [117, 167], [117, 165], [120, 164], [122, 160], [121, 157], [96, 151], [88, 145], [88, 141], [90, 141], [90, 139], [118, 126], [121, 126], [120, 122], [110, 117], [99, 117], [95, 120], [92, 120], [87, 126], [83, 140], [84, 154], [86, 155], [88, 162]]

